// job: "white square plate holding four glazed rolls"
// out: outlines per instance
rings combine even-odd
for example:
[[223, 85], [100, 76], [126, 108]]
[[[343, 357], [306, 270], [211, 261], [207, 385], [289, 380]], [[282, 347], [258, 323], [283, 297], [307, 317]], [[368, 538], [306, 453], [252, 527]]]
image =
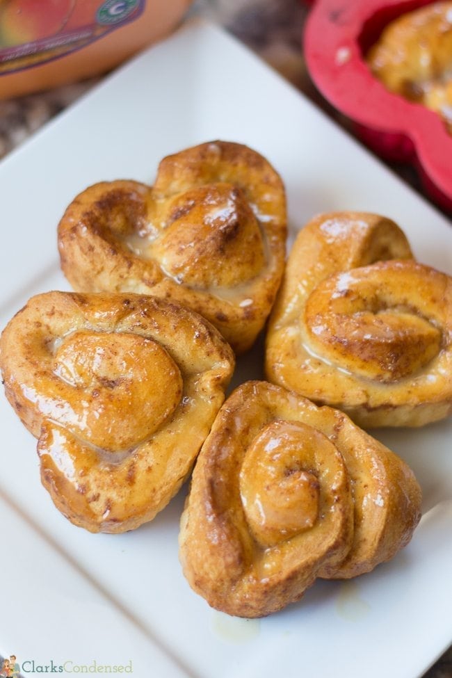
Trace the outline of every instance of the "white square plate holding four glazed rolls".
[[[241, 45], [194, 22], [0, 166], [1, 326], [33, 293], [69, 289], [56, 225], [76, 193], [103, 179], [152, 183], [163, 156], [216, 138], [254, 147], [280, 171], [292, 237], [318, 211], [377, 211], [421, 261], [452, 273], [444, 217]], [[260, 376], [256, 348], [235, 382]], [[212, 611], [181, 574], [184, 492], [133, 533], [89, 534], [42, 489], [35, 441], [3, 394], [0, 414], [0, 652], [14, 652], [24, 675], [26, 661], [53, 659], [131, 660], [140, 678], [414, 678], [451, 642], [450, 422], [376, 432], [423, 487], [424, 516], [401, 554], [349, 583], [317, 581], [300, 603], [248, 622]]]

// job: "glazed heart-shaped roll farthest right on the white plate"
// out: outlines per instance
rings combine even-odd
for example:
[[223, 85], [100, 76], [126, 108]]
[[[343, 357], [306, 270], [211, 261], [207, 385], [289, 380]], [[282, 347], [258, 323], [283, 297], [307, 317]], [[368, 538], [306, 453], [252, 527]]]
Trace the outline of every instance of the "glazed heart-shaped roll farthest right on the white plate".
[[452, 410], [452, 278], [417, 264], [401, 229], [334, 212], [298, 234], [268, 325], [268, 380], [360, 426]]

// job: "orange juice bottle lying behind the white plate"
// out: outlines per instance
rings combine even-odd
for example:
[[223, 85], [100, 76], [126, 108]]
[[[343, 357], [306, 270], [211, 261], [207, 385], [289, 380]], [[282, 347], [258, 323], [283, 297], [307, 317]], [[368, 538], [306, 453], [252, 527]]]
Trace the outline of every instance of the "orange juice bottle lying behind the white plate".
[[190, 0], [0, 0], [0, 98], [102, 73], [169, 33]]

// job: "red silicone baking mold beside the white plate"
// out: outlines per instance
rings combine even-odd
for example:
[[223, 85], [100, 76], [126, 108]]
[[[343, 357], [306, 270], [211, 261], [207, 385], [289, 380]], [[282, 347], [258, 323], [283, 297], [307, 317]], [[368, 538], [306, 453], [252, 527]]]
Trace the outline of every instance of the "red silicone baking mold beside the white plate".
[[322, 94], [391, 160], [412, 162], [430, 196], [452, 209], [452, 136], [428, 108], [392, 94], [364, 61], [392, 19], [432, 0], [317, 0], [307, 19], [305, 58]]

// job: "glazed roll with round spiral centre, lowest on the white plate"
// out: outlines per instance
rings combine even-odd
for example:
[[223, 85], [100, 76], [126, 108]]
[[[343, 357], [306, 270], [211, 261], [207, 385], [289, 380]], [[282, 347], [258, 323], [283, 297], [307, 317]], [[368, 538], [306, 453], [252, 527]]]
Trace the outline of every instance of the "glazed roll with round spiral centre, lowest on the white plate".
[[369, 572], [410, 541], [421, 490], [405, 462], [346, 414], [266, 382], [229, 396], [202, 446], [181, 517], [193, 590], [261, 617], [316, 577]]

